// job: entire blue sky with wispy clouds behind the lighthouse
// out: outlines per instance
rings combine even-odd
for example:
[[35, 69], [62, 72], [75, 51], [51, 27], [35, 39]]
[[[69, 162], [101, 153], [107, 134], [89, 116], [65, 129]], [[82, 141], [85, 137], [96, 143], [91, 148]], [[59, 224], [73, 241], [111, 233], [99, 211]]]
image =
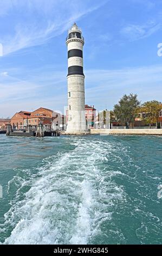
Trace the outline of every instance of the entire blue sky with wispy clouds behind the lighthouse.
[[[86, 103], [162, 100], [161, 0], [0, 0], [0, 118], [67, 106], [67, 30], [85, 37]], [[3, 47], [3, 51], [1, 48]]]

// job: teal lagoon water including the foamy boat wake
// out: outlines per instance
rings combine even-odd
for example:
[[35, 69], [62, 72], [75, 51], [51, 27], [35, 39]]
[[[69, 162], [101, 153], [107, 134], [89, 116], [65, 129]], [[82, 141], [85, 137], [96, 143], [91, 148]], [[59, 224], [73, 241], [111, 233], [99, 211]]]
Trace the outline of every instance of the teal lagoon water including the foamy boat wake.
[[0, 135], [0, 243], [162, 243], [162, 137]]

